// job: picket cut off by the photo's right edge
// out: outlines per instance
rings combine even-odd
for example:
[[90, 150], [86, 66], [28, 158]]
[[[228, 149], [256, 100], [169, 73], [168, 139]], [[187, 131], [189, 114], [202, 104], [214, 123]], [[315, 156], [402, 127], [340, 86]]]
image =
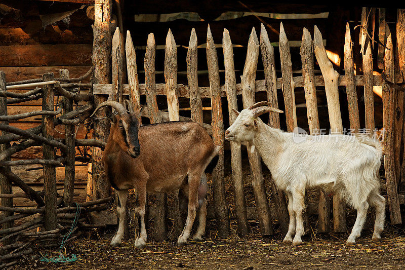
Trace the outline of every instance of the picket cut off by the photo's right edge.
[[[398, 59], [395, 60], [395, 63], [399, 64], [399, 70], [395, 71], [399, 76], [405, 76], [405, 10], [397, 10], [397, 20], [396, 20], [396, 42], [398, 46], [398, 52], [395, 53], [395, 57]], [[401, 163], [403, 164], [403, 156], [401, 153], [401, 146], [403, 146], [403, 123], [405, 118], [403, 113], [405, 112], [405, 93], [402, 91], [396, 92], [396, 104], [395, 104], [395, 142], [394, 142], [394, 155], [395, 155], [395, 176], [396, 182], [399, 185], [402, 176], [405, 172], [401, 173]], [[405, 153], [403, 153], [405, 155]], [[405, 165], [402, 165], [405, 169]]]

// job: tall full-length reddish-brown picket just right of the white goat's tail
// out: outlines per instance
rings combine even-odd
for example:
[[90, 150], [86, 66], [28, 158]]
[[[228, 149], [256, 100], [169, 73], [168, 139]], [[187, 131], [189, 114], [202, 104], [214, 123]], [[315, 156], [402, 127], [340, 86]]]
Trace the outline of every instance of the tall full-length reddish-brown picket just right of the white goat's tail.
[[[394, 52], [392, 46], [391, 31], [388, 25], [385, 26], [386, 43], [384, 54], [384, 73], [388, 81], [395, 83]], [[394, 157], [394, 108], [395, 90], [385, 81], [383, 82], [383, 112], [384, 112], [384, 168], [385, 180], [387, 184], [388, 208], [391, 224], [401, 224], [401, 212], [399, 210], [398, 187], [395, 175]]]

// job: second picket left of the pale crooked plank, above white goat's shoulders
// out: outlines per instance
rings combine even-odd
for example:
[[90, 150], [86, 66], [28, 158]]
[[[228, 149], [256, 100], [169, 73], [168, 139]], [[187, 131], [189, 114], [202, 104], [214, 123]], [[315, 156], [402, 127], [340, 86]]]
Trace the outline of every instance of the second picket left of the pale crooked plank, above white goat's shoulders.
[[297, 112], [295, 107], [294, 88], [295, 83], [293, 80], [293, 70], [291, 64], [290, 47], [288, 39], [282, 23], [280, 23], [280, 60], [281, 60], [281, 74], [282, 74], [282, 94], [284, 95], [287, 131], [293, 132], [297, 127]]

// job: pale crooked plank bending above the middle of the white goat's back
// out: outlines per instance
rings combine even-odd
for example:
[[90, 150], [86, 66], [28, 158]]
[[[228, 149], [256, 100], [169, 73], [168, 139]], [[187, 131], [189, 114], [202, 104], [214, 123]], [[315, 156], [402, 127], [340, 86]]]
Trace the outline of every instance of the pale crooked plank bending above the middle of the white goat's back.
[[[325, 79], [331, 133], [341, 134], [343, 133], [343, 125], [339, 104], [339, 73], [333, 69], [332, 62], [328, 59], [325, 47], [323, 47], [322, 35], [316, 26], [314, 28], [314, 52]], [[346, 206], [336, 195], [333, 197], [333, 227], [335, 232], [346, 232]]]

